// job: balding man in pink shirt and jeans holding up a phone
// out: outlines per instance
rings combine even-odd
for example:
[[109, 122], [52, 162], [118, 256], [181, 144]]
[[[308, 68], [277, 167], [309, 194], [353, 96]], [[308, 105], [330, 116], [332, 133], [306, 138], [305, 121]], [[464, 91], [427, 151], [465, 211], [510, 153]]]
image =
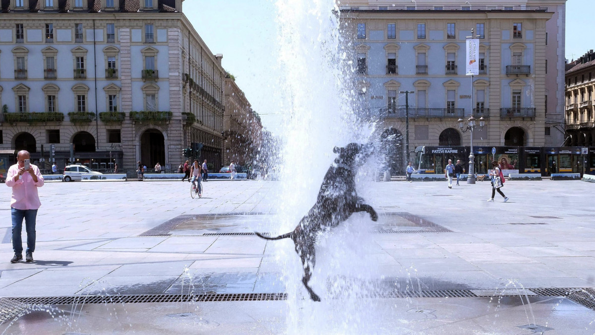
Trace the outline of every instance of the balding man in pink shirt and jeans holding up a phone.
[[23, 219], [27, 231], [27, 262], [33, 262], [35, 252], [35, 220], [37, 209], [41, 206], [37, 188], [43, 186], [43, 177], [39, 168], [30, 163], [29, 151], [21, 150], [17, 154], [17, 164], [11, 166], [7, 172], [6, 185], [12, 187], [10, 201], [12, 216], [12, 250], [14, 257], [11, 263], [18, 263], [23, 259]]

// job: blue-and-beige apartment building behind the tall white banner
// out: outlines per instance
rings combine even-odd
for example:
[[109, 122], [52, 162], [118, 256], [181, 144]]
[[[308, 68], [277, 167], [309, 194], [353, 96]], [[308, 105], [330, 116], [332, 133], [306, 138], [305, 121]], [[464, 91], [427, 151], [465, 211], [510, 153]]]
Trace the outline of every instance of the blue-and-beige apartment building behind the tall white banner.
[[[564, 0], [342, 1], [339, 8], [366, 107], [405, 135], [408, 100], [410, 159], [419, 145], [468, 145], [457, 120], [471, 116], [486, 120], [475, 145], [562, 144]], [[472, 31], [480, 39], [474, 77], [465, 75]]]

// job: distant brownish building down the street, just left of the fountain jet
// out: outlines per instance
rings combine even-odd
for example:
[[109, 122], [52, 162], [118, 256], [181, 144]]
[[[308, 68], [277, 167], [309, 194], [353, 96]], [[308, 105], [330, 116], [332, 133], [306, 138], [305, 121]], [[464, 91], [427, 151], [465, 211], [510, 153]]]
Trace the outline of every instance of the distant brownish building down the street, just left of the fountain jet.
[[251, 165], [257, 158], [262, 139], [260, 117], [252, 110], [233, 77], [227, 76], [224, 86], [224, 165], [229, 165], [231, 161], [236, 165]]

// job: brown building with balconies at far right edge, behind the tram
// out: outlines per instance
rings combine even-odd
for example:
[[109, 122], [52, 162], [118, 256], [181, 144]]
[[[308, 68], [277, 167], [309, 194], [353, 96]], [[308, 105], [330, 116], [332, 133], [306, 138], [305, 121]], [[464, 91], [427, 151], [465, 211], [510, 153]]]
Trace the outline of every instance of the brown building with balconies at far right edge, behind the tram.
[[566, 145], [595, 147], [595, 52], [567, 64]]

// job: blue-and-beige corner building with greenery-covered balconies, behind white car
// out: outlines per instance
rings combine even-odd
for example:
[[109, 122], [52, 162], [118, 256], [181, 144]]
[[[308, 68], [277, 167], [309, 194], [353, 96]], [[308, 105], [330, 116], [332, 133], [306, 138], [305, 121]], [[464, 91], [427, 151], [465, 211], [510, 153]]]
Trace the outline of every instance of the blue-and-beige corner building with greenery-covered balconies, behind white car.
[[182, 0], [2, 1], [0, 150], [49, 163], [54, 145], [60, 168], [73, 148], [91, 168], [133, 169], [177, 167], [183, 148], [202, 142], [218, 169], [221, 57]]

